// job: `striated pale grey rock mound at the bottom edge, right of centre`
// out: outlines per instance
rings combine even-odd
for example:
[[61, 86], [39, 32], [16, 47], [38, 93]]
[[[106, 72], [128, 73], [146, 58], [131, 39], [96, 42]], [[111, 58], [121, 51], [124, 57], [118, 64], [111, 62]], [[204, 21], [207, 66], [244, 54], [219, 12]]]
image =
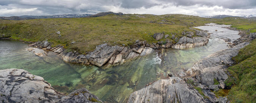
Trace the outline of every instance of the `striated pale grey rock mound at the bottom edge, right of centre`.
[[[213, 94], [207, 95], [211, 97]], [[181, 78], [171, 77], [133, 92], [127, 103], [210, 103], [215, 99], [213, 96], [206, 99]]]

